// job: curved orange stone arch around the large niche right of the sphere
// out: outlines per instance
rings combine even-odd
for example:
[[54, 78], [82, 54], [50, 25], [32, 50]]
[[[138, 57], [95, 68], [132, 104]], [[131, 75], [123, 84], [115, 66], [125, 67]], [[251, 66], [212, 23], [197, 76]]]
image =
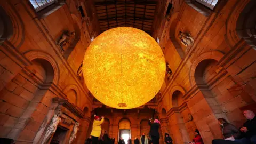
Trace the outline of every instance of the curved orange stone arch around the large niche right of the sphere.
[[209, 52], [205, 52], [203, 54], [201, 54], [192, 64], [192, 66], [190, 67], [190, 71], [189, 71], [189, 81], [191, 86], [196, 85], [196, 79], [195, 79], [195, 70], [196, 67], [198, 66], [198, 64], [203, 61], [203, 60], [207, 60], [207, 59], [212, 59], [215, 61], [219, 61], [222, 57], [223, 57], [223, 53], [219, 52], [219, 51], [209, 51]]

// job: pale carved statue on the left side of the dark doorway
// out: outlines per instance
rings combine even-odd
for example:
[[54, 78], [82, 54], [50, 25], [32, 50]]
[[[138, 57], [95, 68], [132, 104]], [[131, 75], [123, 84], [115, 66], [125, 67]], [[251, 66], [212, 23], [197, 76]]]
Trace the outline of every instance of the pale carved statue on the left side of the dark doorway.
[[47, 143], [47, 141], [51, 138], [52, 134], [57, 130], [58, 124], [61, 121], [60, 115], [62, 111], [60, 109], [55, 110], [55, 114], [52, 118], [51, 124], [48, 126], [46, 133], [44, 135], [44, 139], [41, 144]]

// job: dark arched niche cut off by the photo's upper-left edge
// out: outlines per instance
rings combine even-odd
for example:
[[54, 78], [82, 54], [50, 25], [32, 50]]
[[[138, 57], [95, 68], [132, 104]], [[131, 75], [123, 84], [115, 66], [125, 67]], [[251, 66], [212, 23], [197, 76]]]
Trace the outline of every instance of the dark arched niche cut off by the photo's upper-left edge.
[[10, 17], [2, 6], [0, 6], [0, 43], [13, 35], [13, 25]]

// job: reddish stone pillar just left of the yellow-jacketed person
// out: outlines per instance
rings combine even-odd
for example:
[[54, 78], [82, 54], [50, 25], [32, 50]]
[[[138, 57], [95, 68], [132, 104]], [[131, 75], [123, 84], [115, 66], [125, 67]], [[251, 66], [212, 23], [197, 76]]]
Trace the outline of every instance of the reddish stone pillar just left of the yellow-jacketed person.
[[85, 143], [87, 139], [86, 135], [88, 132], [90, 122], [91, 122], [90, 117], [84, 117], [83, 119], [81, 119], [79, 130], [77, 132], [76, 139], [74, 140], [73, 143]]

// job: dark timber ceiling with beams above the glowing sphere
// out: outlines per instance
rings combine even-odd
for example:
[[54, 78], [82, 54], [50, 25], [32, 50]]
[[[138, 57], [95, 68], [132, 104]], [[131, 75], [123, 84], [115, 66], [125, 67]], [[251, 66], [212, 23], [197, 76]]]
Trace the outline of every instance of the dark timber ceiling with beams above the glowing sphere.
[[157, 0], [94, 0], [101, 33], [115, 27], [134, 27], [152, 34]]

